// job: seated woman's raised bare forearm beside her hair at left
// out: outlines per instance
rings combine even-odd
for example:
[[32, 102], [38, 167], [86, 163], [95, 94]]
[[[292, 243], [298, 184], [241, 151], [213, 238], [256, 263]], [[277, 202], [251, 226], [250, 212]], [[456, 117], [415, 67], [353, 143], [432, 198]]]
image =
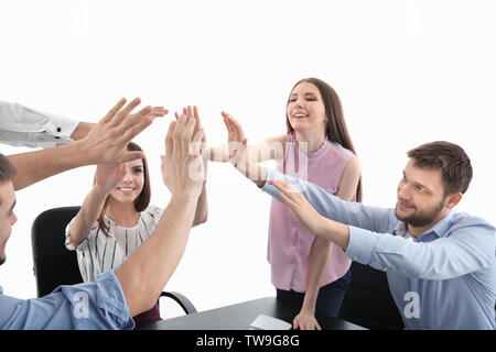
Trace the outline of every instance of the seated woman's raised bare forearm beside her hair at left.
[[85, 197], [79, 212], [71, 224], [69, 238], [71, 243], [77, 246], [88, 235], [91, 227], [98, 220], [98, 217], [104, 208], [108, 191], [103, 190], [95, 185], [88, 195]]

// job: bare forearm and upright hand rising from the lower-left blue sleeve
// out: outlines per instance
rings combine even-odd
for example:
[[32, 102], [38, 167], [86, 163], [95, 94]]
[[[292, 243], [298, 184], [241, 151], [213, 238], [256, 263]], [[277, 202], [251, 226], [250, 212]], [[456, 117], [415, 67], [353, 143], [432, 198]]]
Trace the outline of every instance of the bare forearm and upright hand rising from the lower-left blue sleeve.
[[172, 121], [162, 156], [162, 175], [172, 197], [153, 235], [117, 271], [131, 316], [150, 309], [175, 271], [187, 242], [204, 169], [200, 153], [203, 130], [193, 138], [195, 119]]

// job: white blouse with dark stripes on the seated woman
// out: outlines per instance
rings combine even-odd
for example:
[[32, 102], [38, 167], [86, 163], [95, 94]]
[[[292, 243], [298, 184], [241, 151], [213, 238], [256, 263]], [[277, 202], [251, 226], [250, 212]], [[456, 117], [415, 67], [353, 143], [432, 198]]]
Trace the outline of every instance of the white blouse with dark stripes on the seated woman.
[[106, 235], [96, 222], [77, 248], [74, 248], [68, 237], [68, 229], [74, 219], [71, 220], [65, 229], [65, 246], [69, 251], [76, 250], [84, 282], [94, 282], [99, 274], [118, 268], [150, 238], [162, 217], [162, 211], [163, 209], [155, 206], [149, 206], [140, 213], [138, 223], [133, 228], [118, 226], [104, 215], [104, 221], [109, 226], [109, 235]]

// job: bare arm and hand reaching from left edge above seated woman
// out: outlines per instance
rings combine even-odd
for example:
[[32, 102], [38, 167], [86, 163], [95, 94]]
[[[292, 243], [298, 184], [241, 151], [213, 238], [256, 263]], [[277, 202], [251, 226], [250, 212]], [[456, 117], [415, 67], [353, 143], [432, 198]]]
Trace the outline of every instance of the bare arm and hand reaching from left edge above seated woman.
[[166, 110], [161, 107], [145, 107], [131, 114], [140, 102], [141, 100], [137, 98], [125, 107], [126, 99], [121, 99], [79, 141], [47, 150], [9, 155], [9, 160], [18, 170], [13, 179], [14, 188], [22, 189], [79, 166], [125, 163], [144, 157], [142, 152], [130, 152], [126, 146], [149, 127], [155, 117], [164, 116]]

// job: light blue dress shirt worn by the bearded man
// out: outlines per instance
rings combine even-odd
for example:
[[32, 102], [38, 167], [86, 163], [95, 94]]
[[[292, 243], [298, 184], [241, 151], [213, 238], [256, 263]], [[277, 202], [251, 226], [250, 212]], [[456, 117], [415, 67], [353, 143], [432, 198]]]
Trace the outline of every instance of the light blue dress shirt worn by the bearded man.
[[[496, 237], [488, 222], [452, 210], [414, 239], [393, 209], [343, 201], [269, 170], [271, 179], [291, 182], [320, 215], [348, 226], [346, 255], [387, 272], [407, 329], [496, 329]], [[281, 200], [268, 183], [262, 190]]]

